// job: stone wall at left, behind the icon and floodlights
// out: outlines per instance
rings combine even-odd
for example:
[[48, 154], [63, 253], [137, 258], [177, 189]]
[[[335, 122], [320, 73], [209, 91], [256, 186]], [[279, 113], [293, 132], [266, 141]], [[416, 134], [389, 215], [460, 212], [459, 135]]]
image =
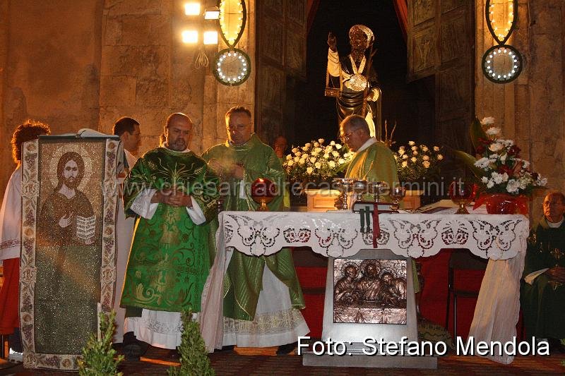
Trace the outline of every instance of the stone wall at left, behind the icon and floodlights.
[[8, 142], [32, 118], [52, 133], [93, 128], [111, 133], [120, 116], [141, 123], [143, 153], [158, 145], [169, 114], [194, 122], [191, 149], [225, 140], [224, 114], [254, 110], [255, 1], [246, 1], [246, 28], [237, 47], [252, 62], [246, 83], [227, 87], [211, 70], [220, 45], [208, 47], [208, 68], [196, 68], [199, 47], [183, 44], [183, 1], [0, 0], [0, 189], [13, 171]]

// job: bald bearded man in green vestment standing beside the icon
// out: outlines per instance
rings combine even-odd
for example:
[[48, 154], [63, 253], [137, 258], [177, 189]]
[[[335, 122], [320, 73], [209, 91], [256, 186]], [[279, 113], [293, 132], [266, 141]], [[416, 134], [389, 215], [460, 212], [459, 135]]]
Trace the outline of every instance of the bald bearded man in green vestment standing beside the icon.
[[181, 341], [180, 313], [201, 310], [213, 260], [207, 223], [216, 215], [218, 178], [189, 150], [191, 131], [188, 116], [170, 115], [165, 145], [138, 159], [124, 183], [126, 215], [137, 217], [121, 294], [129, 358], [141, 351], [131, 332], [174, 349]]

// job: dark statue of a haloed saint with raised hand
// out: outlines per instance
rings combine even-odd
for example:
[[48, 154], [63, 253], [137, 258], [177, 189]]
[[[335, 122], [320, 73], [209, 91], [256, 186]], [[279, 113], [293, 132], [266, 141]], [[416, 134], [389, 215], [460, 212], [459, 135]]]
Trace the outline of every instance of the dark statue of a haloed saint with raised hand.
[[335, 35], [328, 35], [328, 74], [340, 80], [337, 97], [338, 123], [356, 114], [364, 116], [371, 137], [381, 138], [381, 89], [371, 68], [374, 35], [365, 25], [353, 25], [349, 30], [351, 52], [341, 58]]

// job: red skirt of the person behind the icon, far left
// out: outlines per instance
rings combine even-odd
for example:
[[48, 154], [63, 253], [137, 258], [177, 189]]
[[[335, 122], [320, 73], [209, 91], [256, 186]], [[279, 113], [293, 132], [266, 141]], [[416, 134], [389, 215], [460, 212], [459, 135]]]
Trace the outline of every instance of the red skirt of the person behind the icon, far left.
[[20, 285], [20, 259], [3, 261], [4, 283], [0, 289], [0, 334], [12, 334], [20, 327], [18, 299]]

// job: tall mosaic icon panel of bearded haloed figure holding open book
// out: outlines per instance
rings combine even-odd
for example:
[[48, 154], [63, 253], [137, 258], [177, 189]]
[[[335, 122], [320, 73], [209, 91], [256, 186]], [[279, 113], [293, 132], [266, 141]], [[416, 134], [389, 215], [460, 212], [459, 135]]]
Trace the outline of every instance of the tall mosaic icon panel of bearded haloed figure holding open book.
[[26, 368], [77, 370], [112, 309], [117, 138], [46, 137], [23, 145], [20, 325]]

